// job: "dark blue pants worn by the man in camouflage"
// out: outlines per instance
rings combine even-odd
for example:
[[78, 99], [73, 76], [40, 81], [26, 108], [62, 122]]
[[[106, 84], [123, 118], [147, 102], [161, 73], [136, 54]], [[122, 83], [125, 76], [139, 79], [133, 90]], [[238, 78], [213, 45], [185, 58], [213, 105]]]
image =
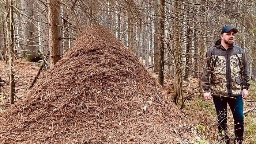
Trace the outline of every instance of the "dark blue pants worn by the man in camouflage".
[[234, 98], [227, 97], [213, 97], [214, 105], [218, 115], [218, 129], [222, 135], [224, 131], [227, 133], [227, 103], [233, 113], [234, 124], [235, 124], [235, 136], [236, 140], [242, 141], [244, 139], [244, 108], [242, 96], [236, 96]]

